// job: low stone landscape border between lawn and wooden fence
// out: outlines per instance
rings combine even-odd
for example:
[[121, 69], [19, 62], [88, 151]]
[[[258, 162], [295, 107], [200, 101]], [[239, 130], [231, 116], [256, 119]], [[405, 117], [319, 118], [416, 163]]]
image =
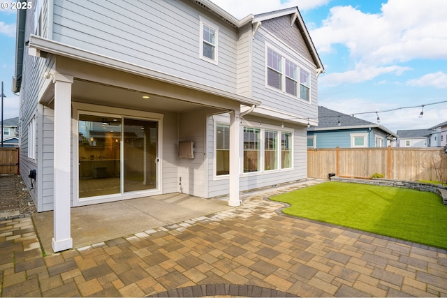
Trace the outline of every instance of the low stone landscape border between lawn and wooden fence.
[[447, 186], [443, 186], [441, 184], [430, 184], [418, 181], [395, 180], [385, 178], [364, 179], [356, 177], [350, 178], [350, 177], [339, 177], [339, 176], [330, 177], [330, 181], [370, 184], [379, 186], [393, 186], [393, 187], [417, 189], [419, 191], [430, 191], [431, 193], [436, 193], [437, 195], [440, 195], [443, 204], [447, 205]]

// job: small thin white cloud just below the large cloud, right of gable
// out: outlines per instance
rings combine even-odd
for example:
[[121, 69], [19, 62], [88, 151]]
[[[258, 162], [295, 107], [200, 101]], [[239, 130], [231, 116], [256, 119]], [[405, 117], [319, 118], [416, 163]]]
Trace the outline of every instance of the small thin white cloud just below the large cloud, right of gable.
[[347, 70], [343, 73], [328, 73], [327, 75], [320, 77], [318, 80], [325, 86], [337, 86], [345, 83], [366, 82], [379, 75], [388, 73], [402, 75], [406, 70], [411, 70], [411, 68], [403, 66], [364, 66], [358, 64], [353, 70]]

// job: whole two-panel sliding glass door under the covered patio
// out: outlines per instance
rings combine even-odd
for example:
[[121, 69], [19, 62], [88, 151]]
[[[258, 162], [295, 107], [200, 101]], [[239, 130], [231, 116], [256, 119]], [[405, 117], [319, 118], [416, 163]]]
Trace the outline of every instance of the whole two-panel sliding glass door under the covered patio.
[[80, 114], [79, 198], [157, 188], [158, 122]]

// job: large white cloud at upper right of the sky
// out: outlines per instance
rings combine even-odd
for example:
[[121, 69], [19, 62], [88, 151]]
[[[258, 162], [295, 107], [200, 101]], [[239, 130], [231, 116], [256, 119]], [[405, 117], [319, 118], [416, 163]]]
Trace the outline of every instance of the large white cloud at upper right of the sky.
[[351, 58], [372, 65], [412, 59], [447, 59], [447, 1], [389, 0], [381, 13], [336, 6], [323, 26], [311, 31], [319, 52], [345, 45]]

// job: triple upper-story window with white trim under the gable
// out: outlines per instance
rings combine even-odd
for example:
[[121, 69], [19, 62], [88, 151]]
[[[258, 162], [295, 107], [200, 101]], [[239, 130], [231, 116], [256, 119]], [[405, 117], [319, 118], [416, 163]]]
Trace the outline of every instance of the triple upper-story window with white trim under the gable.
[[[291, 59], [267, 47], [267, 85], [310, 101], [310, 73]], [[299, 91], [298, 91], [299, 90]]]

